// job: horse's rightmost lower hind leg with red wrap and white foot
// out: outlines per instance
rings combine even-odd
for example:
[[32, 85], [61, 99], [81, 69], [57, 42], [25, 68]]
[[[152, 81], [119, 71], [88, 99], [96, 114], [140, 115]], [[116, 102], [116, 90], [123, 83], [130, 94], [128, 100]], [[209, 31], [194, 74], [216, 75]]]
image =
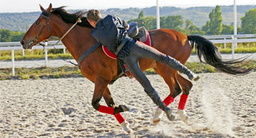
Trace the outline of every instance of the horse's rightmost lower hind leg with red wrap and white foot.
[[187, 97], [189, 95], [190, 89], [192, 88], [193, 84], [189, 81], [184, 79], [180, 74], [177, 75], [178, 83], [181, 85], [182, 88], [182, 95], [181, 99], [178, 103], [178, 115], [181, 118], [181, 121], [183, 121], [185, 124], [189, 123], [189, 117], [184, 110], [184, 107], [187, 103]]

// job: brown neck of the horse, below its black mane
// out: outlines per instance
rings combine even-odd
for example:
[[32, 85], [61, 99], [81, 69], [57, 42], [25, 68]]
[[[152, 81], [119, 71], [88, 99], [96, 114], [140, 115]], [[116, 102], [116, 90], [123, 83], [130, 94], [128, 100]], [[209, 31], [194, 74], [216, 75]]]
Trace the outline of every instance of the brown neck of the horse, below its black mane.
[[[66, 31], [73, 25], [62, 21], [61, 18], [56, 17], [53, 23], [50, 23], [52, 35], [61, 38]], [[71, 31], [62, 39], [62, 43], [69, 50], [71, 55], [78, 61], [78, 58], [92, 46], [96, 41], [90, 35], [91, 28], [81, 27], [76, 25]]]

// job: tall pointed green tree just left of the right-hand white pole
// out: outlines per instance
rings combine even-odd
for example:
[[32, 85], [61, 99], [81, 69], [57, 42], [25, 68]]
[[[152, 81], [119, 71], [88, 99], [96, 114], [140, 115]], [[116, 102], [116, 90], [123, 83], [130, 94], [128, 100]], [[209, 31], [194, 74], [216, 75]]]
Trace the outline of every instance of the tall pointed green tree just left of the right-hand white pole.
[[221, 6], [216, 6], [212, 9], [212, 12], [209, 13], [209, 21], [206, 25], [203, 26], [203, 31], [210, 34], [221, 34], [222, 31], [222, 16], [221, 16]]

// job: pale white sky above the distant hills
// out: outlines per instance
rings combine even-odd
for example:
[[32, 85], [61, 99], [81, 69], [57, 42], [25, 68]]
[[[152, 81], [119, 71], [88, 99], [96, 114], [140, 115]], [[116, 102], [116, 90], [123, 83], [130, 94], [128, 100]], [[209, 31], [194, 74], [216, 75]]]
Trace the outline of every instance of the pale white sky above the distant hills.
[[[233, 5], [234, 0], [158, 0], [160, 7], [200, 7], [216, 5]], [[68, 10], [107, 9], [128, 7], [152, 7], [157, 0], [0, 0], [0, 13], [22, 13], [41, 11], [39, 4], [47, 8], [50, 3], [53, 7], [68, 6]], [[256, 5], [256, 0], [236, 0], [236, 5]]]

